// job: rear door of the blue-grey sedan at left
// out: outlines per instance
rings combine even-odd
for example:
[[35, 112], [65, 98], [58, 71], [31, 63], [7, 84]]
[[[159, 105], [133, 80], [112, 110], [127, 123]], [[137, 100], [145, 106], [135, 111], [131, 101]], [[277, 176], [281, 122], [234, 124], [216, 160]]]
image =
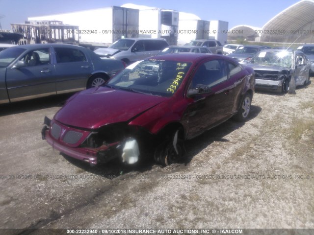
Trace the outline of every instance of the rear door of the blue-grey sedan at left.
[[54, 47], [57, 94], [86, 88], [93, 65], [79, 48]]

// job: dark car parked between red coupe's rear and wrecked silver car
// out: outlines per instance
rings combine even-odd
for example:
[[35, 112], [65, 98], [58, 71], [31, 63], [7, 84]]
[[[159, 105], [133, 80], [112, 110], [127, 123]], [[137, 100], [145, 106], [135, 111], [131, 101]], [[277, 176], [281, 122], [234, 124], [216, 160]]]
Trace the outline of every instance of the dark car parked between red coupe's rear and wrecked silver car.
[[234, 58], [237, 62], [242, 64], [245, 63], [245, 61], [250, 60], [255, 54], [264, 49], [265, 47], [262, 46], [242, 46], [228, 56]]

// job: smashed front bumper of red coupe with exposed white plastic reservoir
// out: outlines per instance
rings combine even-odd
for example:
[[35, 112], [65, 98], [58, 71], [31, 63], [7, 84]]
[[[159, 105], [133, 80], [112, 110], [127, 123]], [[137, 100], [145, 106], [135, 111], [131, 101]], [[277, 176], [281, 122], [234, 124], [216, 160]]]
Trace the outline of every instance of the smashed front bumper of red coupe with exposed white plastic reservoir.
[[97, 130], [86, 130], [45, 117], [42, 138], [54, 149], [92, 165], [116, 158], [134, 164], [139, 160], [140, 146], [147, 146], [143, 142], [152, 138], [152, 135], [138, 126], [123, 122], [108, 124]]

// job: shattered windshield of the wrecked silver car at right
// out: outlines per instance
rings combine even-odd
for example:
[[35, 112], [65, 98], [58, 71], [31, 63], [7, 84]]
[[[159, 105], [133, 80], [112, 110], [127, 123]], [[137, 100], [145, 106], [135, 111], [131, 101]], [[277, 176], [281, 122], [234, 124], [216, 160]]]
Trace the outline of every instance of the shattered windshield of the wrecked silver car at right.
[[281, 51], [262, 51], [254, 56], [252, 64], [258, 65], [276, 65], [290, 68], [293, 62], [293, 52], [287, 50]]

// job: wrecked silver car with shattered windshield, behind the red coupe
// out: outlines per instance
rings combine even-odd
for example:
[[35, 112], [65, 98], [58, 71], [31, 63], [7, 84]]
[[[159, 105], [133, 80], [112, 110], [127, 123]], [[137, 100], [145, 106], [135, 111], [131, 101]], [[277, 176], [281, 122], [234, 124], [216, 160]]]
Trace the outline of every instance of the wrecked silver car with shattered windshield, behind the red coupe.
[[291, 87], [307, 85], [310, 78], [311, 62], [301, 51], [264, 50], [248, 65], [255, 71], [256, 89], [260, 90], [286, 93]]

